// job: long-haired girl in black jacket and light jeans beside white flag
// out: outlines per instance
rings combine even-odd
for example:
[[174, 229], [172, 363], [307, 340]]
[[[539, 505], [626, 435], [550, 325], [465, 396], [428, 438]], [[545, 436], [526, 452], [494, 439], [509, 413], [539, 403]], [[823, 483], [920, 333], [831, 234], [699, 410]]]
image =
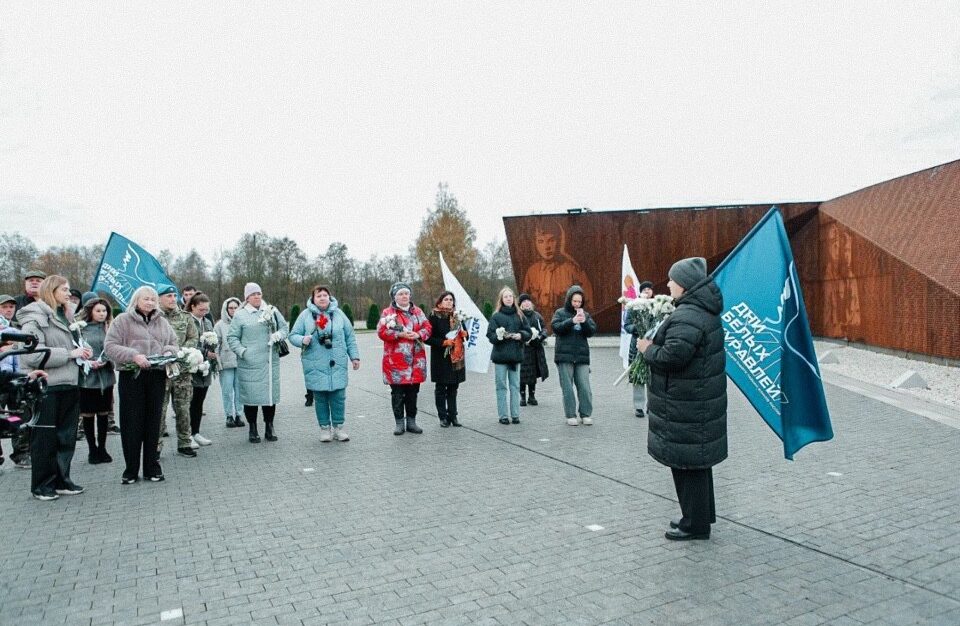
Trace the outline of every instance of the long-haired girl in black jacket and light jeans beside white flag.
[[531, 337], [527, 318], [517, 308], [514, 298], [509, 287], [500, 290], [487, 327], [487, 339], [493, 344], [490, 360], [495, 368], [497, 415], [501, 424], [520, 423], [520, 364], [523, 363], [523, 344]]

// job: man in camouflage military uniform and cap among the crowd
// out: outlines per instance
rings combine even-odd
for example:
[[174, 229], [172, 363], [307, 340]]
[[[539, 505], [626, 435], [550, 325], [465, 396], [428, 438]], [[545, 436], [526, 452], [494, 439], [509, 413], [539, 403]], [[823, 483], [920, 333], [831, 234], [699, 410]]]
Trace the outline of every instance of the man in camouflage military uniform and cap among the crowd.
[[[170, 326], [173, 332], [177, 334], [177, 342], [181, 348], [196, 348], [197, 325], [190, 319], [190, 315], [177, 306], [177, 290], [174, 287], [166, 287], [160, 290], [160, 312]], [[193, 399], [193, 384], [190, 380], [190, 372], [187, 368], [181, 367], [180, 374], [174, 378], [167, 379], [167, 392], [163, 397], [164, 416], [160, 421], [160, 434], [166, 429], [167, 418], [166, 410], [170, 398], [173, 398], [173, 414], [177, 420], [177, 454], [187, 457], [197, 456], [190, 437], [190, 400]], [[157, 453], [163, 448], [163, 439], [157, 444]]]

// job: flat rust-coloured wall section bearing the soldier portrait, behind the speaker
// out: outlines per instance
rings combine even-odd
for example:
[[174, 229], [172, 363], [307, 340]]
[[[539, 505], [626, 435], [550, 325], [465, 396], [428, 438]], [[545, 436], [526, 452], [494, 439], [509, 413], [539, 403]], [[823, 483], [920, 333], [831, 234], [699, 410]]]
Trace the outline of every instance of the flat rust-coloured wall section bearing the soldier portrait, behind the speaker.
[[[601, 332], [620, 329], [620, 263], [627, 244], [640, 280], [667, 293], [667, 271], [689, 256], [703, 256], [713, 270], [772, 205], [606, 211], [576, 215], [505, 217], [513, 272], [545, 317], [580, 284]], [[817, 203], [778, 205], [788, 232], [815, 221]], [[816, 252], [815, 241], [810, 251]], [[798, 253], [798, 265], [803, 254]], [[801, 273], [801, 280], [803, 273]]]

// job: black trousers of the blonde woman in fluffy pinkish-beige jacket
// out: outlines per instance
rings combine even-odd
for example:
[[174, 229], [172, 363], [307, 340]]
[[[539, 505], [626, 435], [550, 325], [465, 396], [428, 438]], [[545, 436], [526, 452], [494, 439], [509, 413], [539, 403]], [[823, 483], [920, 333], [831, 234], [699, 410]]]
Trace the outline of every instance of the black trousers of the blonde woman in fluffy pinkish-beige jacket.
[[120, 399], [120, 443], [123, 445], [123, 460], [126, 467], [124, 478], [162, 476], [157, 440], [160, 438], [160, 416], [163, 413], [163, 396], [167, 390], [167, 374], [164, 370], [141, 370], [134, 378], [133, 372], [120, 372], [117, 385]]

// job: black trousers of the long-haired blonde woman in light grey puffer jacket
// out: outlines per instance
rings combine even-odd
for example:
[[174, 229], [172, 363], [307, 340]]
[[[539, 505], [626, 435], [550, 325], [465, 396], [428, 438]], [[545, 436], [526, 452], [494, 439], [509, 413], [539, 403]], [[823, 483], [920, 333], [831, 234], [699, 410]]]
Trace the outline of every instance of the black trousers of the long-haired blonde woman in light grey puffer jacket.
[[37, 428], [30, 429], [30, 490], [33, 493], [65, 489], [77, 447], [80, 389], [57, 385], [40, 405]]

